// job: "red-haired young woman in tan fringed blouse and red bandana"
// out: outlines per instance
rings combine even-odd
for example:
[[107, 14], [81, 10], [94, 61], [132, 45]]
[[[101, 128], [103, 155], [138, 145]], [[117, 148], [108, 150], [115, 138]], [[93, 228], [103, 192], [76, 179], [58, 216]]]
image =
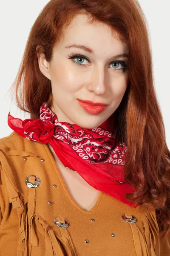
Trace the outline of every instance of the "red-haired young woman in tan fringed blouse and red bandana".
[[170, 151], [133, 0], [51, 0], [0, 139], [0, 255], [169, 256]]

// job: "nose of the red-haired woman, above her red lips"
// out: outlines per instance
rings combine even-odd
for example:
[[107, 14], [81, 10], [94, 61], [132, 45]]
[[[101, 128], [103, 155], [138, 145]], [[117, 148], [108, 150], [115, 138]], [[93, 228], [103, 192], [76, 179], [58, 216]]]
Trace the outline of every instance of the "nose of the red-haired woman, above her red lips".
[[102, 95], [106, 90], [106, 74], [103, 68], [95, 68], [88, 82], [88, 90], [96, 95]]

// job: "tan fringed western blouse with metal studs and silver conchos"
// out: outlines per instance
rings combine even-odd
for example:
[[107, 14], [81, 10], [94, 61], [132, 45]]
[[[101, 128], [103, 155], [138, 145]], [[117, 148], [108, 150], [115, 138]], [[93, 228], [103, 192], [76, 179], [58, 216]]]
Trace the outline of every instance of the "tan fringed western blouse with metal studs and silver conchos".
[[99, 192], [82, 209], [47, 144], [12, 132], [0, 139], [0, 167], [0, 256], [170, 256], [149, 207]]

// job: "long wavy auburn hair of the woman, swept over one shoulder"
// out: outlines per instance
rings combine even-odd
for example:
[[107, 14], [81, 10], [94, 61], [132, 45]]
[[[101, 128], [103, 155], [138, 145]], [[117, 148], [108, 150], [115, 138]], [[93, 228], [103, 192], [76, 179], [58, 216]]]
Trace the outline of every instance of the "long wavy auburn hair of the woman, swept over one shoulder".
[[[52, 104], [51, 81], [40, 71], [37, 53], [47, 61], [77, 14], [89, 24], [107, 24], [129, 47], [130, 83], [115, 111], [116, 140], [127, 145], [125, 181], [136, 192], [127, 200], [156, 211], [161, 237], [170, 224], [170, 151], [153, 85], [153, 63], [148, 24], [137, 0], [51, 0], [31, 28], [23, 59], [12, 84], [17, 107], [38, 118], [40, 106]], [[37, 45], [40, 47], [37, 48]], [[149, 204], [148, 204], [149, 203]]]

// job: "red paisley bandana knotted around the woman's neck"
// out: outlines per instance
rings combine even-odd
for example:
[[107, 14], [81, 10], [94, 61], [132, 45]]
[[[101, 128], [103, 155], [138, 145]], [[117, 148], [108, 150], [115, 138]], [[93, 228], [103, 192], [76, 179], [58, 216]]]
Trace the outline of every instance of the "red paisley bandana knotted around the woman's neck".
[[127, 148], [120, 142], [115, 145], [114, 115], [99, 127], [87, 129], [58, 122], [57, 116], [44, 102], [39, 119], [22, 121], [9, 112], [8, 125], [28, 140], [49, 143], [65, 167], [78, 172], [95, 189], [132, 207], [132, 202], [125, 198], [126, 193], [135, 192], [124, 180], [124, 154]]

